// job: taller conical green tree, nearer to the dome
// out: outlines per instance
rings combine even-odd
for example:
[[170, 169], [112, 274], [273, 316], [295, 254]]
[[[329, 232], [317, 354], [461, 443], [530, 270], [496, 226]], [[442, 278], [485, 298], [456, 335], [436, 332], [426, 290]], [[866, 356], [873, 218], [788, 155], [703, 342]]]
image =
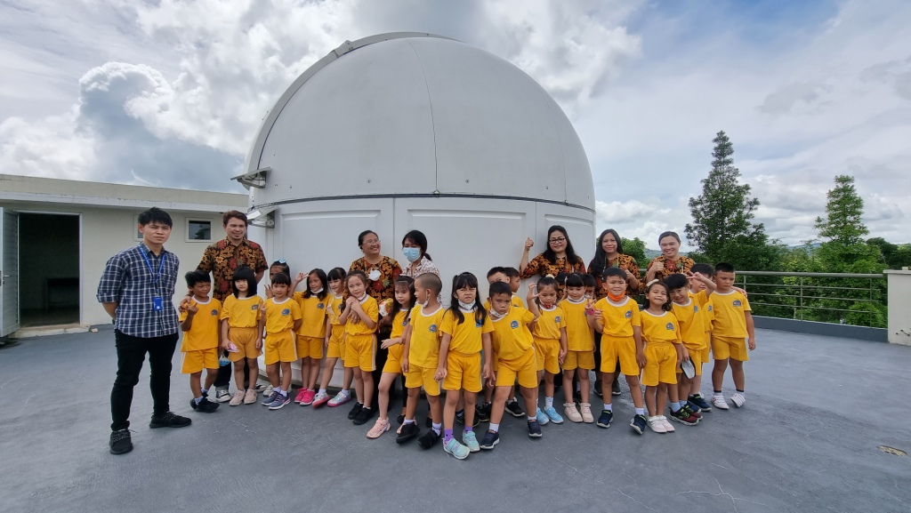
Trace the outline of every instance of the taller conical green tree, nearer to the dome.
[[709, 176], [701, 182], [702, 194], [690, 199], [687, 239], [709, 262], [731, 262], [748, 271], [774, 269], [784, 249], [770, 243], [763, 223], [752, 222], [759, 200], [751, 197], [749, 184], [741, 183], [731, 139], [721, 131], [712, 142]]

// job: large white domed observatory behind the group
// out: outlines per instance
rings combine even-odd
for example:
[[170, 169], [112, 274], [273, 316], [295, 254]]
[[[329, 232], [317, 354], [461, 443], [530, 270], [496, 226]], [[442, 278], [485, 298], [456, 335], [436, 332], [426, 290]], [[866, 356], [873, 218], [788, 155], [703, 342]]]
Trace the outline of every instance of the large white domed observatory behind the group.
[[[445, 292], [458, 272], [518, 267], [564, 226], [588, 262], [595, 198], [568, 118], [523, 71], [429, 34], [345, 42], [298, 77], [264, 119], [237, 177], [251, 239], [292, 272], [345, 269], [372, 230], [383, 254], [424, 231]], [[448, 303], [447, 301], [445, 303]]]

